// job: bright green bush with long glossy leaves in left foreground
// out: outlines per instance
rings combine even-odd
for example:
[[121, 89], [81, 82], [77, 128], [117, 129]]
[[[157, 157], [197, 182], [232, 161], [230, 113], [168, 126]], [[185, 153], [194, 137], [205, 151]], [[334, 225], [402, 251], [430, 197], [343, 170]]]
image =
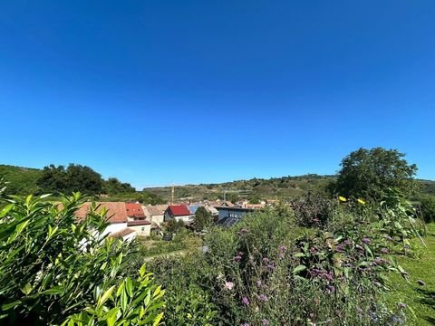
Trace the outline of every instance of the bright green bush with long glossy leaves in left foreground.
[[[53, 204], [6, 197], [0, 213], [2, 324], [159, 323], [162, 292], [144, 267], [123, 279], [134, 246], [102, 234], [106, 211], [74, 215], [79, 194]], [[137, 273], [137, 272], [136, 272]]]

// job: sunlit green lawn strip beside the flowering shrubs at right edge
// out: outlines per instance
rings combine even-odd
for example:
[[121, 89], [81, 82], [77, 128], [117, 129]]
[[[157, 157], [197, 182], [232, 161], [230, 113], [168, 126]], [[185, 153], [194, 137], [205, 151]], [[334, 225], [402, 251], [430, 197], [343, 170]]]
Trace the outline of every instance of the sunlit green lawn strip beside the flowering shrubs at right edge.
[[[427, 248], [417, 241], [417, 257], [396, 257], [397, 263], [409, 273], [409, 283], [401, 275], [391, 275], [388, 301], [407, 304], [407, 325], [435, 325], [435, 224], [428, 225], [428, 235], [424, 237]], [[425, 285], [419, 285], [418, 281]]]

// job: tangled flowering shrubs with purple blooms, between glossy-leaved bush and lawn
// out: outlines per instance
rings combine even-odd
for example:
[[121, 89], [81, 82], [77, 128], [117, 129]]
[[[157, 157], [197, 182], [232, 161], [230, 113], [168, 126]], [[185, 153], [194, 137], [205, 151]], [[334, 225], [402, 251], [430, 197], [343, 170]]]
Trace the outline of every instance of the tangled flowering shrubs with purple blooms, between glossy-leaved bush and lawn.
[[406, 306], [384, 295], [389, 273], [408, 277], [391, 254], [412, 253], [421, 225], [411, 204], [392, 190], [373, 206], [323, 200], [212, 227], [205, 254], [153, 262], [168, 293], [167, 324], [405, 324]]

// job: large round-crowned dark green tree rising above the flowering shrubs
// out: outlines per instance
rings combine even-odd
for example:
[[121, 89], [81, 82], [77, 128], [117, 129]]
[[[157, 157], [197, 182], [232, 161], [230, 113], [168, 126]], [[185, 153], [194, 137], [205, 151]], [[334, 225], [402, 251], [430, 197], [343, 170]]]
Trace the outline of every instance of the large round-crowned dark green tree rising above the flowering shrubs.
[[417, 188], [415, 164], [397, 149], [358, 149], [343, 158], [333, 190], [344, 197], [379, 200], [389, 188], [410, 196]]

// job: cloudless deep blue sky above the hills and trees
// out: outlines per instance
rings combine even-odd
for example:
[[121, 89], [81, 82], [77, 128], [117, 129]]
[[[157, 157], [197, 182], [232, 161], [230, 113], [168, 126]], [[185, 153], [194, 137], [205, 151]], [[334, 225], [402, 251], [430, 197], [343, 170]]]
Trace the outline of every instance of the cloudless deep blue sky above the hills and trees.
[[333, 174], [354, 149], [435, 179], [435, 1], [2, 1], [0, 163], [136, 187]]

